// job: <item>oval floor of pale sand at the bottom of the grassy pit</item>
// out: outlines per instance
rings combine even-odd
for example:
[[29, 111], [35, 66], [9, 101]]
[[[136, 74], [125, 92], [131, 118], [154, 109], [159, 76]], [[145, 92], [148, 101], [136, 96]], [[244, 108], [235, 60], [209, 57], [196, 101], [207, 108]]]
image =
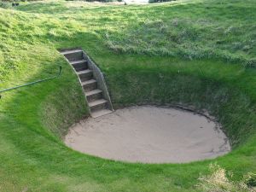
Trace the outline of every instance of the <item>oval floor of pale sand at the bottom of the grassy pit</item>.
[[111, 160], [181, 163], [230, 151], [219, 125], [205, 116], [152, 106], [119, 109], [73, 125], [67, 146]]

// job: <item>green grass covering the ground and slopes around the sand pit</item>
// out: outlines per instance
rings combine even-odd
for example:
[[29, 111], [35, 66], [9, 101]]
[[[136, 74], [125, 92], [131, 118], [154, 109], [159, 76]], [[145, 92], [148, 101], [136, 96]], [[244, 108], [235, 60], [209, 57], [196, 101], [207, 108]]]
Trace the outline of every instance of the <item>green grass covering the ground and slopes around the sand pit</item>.
[[[256, 172], [256, 5], [253, 0], [145, 6], [21, 3], [0, 9], [0, 88], [57, 73], [60, 79], [3, 94], [0, 191], [200, 191], [218, 163], [240, 180]], [[215, 160], [143, 165], [102, 160], [61, 141], [88, 115], [79, 80], [57, 49], [82, 47], [106, 75], [114, 108], [183, 104], [224, 126], [234, 150]]]

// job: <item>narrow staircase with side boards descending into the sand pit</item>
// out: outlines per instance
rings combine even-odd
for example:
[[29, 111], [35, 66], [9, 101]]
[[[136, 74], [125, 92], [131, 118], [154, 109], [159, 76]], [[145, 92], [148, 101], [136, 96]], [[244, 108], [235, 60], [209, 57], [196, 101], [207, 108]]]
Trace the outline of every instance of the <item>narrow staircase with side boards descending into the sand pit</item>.
[[[113, 108], [108, 96], [108, 89], [103, 76], [99, 74], [101, 73], [99, 68], [90, 61], [82, 49], [61, 50], [61, 54], [65, 56], [79, 77], [90, 107], [91, 117], [96, 118], [112, 113]], [[99, 82], [101, 86], [99, 86]]]

